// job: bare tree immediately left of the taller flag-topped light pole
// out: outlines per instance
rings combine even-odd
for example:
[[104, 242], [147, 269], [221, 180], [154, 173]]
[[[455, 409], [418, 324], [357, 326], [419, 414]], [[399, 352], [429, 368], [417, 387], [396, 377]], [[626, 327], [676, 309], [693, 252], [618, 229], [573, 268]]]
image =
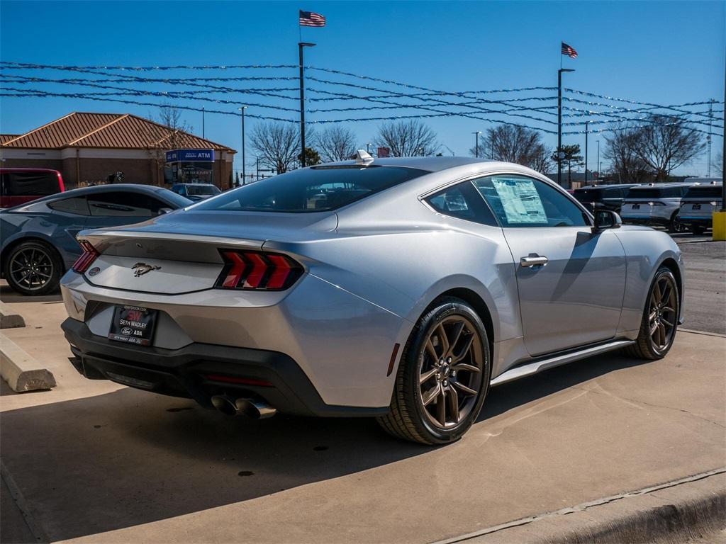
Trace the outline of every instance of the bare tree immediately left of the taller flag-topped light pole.
[[250, 131], [250, 147], [264, 164], [281, 174], [298, 162], [300, 133], [297, 125], [282, 121], [258, 123]]

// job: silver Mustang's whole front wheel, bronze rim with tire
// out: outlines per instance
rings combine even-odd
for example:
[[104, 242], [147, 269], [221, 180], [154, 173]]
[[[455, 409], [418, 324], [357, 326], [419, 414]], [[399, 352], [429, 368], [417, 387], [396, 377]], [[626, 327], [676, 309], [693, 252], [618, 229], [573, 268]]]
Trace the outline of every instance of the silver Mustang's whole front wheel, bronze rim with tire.
[[678, 284], [670, 269], [661, 267], [648, 292], [640, 332], [627, 353], [649, 360], [665, 357], [676, 336], [679, 310]]

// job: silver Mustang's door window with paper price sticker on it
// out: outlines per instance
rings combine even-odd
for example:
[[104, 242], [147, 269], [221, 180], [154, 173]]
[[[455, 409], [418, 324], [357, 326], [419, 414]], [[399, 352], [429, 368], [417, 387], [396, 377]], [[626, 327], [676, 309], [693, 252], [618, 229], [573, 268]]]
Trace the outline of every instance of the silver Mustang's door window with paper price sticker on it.
[[488, 176], [474, 181], [503, 227], [587, 226], [584, 213], [549, 184], [525, 176]]

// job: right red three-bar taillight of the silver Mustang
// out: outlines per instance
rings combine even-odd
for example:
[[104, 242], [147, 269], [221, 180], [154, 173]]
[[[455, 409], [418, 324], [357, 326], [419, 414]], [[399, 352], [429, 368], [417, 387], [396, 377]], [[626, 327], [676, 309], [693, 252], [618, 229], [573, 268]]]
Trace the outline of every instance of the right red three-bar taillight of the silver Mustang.
[[221, 250], [224, 268], [215, 284], [223, 289], [282, 291], [303, 273], [295, 260], [280, 253]]

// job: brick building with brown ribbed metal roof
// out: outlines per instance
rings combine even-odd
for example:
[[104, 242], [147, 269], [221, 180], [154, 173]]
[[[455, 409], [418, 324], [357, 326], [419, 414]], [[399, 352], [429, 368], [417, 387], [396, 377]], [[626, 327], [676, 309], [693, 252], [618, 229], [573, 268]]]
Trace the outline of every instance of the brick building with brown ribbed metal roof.
[[180, 148], [213, 149], [213, 182], [229, 189], [234, 149], [128, 113], [73, 112], [25, 134], [0, 135], [2, 168], [59, 170], [68, 189], [119, 171], [124, 183], [163, 186], [170, 182], [166, 152]]

